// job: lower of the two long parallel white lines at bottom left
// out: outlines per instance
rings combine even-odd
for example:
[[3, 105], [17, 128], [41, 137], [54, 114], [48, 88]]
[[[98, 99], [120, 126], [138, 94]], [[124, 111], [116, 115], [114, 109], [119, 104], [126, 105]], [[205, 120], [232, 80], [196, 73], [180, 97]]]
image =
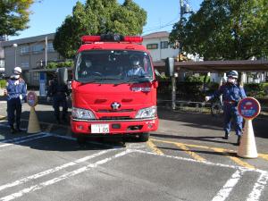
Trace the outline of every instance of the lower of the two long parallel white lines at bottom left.
[[6, 197], [1, 197], [0, 200], [1, 201], [9, 201], [9, 200], [13, 200], [13, 199], [18, 198], [18, 197], [22, 197], [25, 194], [28, 194], [30, 192], [34, 192], [34, 191], [36, 191], [38, 189], [45, 188], [47, 186], [53, 185], [54, 183], [57, 183], [57, 182], [59, 182], [61, 180], [69, 179], [69, 178], [71, 178], [71, 177], [73, 177], [75, 175], [78, 175], [78, 174], [82, 173], [82, 172], [86, 172], [86, 171], [88, 171], [88, 170], [90, 170], [92, 168], [96, 168], [98, 165], [107, 163], [107, 162], [112, 161], [113, 159], [121, 157], [123, 155], [127, 155], [130, 152], [132, 152], [132, 150], [127, 149], [127, 150], [125, 150], [125, 151], [123, 151], [123, 152], [121, 152], [119, 154], [116, 154], [116, 155], [113, 155], [111, 157], [107, 157], [107, 158], [105, 158], [103, 160], [97, 161], [96, 163], [90, 163], [87, 166], [81, 167], [80, 169], [77, 169], [75, 171], [67, 172], [67, 173], [61, 175], [60, 177], [54, 178], [52, 180], [47, 180], [45, 182], [39, 183], [38, 185], [34, 185], [34, 186], [29, 187], [29, 188], [24, 188], [24, 189], [22, 189], [22, 190], [20, 190], [20, 191], [18, 191], [16, 193], [13, 193], [11, 195], [6, 196]]

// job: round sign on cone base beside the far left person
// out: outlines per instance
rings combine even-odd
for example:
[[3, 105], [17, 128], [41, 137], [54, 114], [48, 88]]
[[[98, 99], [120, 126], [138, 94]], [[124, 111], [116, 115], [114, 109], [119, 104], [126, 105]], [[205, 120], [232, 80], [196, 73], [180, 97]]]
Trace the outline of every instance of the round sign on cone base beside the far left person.
[[38, 96], [35, 92], [30, 91], [27, 95], [27, 103], [30, 106], [30, 112], [29, 112], [29, 124], [28, 124], [28, 130], [27, 133], [38, 133], [41, 131], [39, 121], [38, 121], [38, 115], [35, 111], [35, 106], [38, 105]]

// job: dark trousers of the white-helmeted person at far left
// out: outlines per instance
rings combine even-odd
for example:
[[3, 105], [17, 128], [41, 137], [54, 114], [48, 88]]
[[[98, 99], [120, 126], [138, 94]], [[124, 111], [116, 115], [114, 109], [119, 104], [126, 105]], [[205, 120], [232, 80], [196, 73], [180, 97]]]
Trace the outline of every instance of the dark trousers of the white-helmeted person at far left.
[[21, 99], [12, 98], [7, 101], [7, 118], [8, 123], [13, 127], [14, 120], [16, 119], [17, 128], [21, 126]]

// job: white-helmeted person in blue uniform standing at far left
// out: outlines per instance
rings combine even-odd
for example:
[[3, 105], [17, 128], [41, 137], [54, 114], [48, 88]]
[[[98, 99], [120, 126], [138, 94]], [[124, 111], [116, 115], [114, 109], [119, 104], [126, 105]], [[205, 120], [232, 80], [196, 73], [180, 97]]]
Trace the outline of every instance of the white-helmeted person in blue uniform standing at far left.
[[[12, 133], [21, 131], [21, 104], [26, 100], [27, 87], [21, 78], [21, 67], [15, 67], [6, 83], [7, 117]], [[16, 115], [15, 115], [16, 114]], [[16, 120], [16, 129], [14, 121]]]

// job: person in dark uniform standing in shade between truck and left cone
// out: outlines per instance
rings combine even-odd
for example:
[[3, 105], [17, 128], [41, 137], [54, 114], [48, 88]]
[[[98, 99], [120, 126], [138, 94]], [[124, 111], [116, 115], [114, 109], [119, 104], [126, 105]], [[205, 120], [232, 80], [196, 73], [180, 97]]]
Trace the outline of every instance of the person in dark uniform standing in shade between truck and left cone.
[[[67, 85], [61, 85], [58, 81], [58, 71], [54, 72], [54, 80], [49, 83], [47, 90], [47, 101], [49, 102], [51, 97], [53, 99], [54, 116], [58, 123], [67, 121], [68, 105], [67, 97], [69, 98], [70, 91]], [[60, 106], [63, 107], [62, 118], [60, 118]]]

